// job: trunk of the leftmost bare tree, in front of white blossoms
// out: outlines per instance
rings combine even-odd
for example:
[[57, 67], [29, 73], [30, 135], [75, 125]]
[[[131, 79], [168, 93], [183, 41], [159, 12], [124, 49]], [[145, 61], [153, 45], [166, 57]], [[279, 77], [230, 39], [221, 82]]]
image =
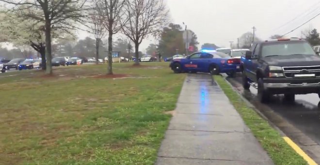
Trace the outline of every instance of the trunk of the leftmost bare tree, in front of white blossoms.
[[52, 74], [51, 66], [51, 25], [50, 21], [46, 20], [46, 61], [47, 69], [46, 74]]

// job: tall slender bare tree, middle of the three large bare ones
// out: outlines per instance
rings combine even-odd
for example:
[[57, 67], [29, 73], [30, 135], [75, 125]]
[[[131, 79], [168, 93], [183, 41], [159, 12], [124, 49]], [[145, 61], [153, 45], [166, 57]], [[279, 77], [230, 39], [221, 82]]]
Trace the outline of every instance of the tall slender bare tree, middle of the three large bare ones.
[[98, 14], [108, 31], [108, 74], [112, 72], [112, 36], [118, 33], [126, 20], [123, 19], [126, 0], [94, 0]]

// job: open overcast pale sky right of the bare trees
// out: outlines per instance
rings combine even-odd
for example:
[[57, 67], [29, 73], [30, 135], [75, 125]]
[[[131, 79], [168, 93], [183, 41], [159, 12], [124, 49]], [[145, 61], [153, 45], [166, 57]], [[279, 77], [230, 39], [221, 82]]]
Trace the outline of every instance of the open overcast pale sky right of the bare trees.
[[[199, 47], [214, 43], [229, 47], [229, 41], [256, 27], [256, 35], [269, 39], [273, 34], [285, 34], [320, 13], [320, 0], [165, 0], [174, 23], [182, 22], [198, 36]], [[320, 16], [288, 37], [301, 36], [301, 31], [313, 27], [320, 31]], [[150, 43], [145, 39], [140, 50]]]

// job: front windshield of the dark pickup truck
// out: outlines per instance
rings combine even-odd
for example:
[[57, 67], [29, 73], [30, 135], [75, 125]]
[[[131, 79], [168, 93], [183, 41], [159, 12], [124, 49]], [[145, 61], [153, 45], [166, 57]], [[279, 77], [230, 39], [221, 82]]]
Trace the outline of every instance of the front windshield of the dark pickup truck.
[[293, 55], [293, 54], [306, 54], [316, 55], [315, 51], [307, 42], [272, 42], [262, 45], [261, 55]]

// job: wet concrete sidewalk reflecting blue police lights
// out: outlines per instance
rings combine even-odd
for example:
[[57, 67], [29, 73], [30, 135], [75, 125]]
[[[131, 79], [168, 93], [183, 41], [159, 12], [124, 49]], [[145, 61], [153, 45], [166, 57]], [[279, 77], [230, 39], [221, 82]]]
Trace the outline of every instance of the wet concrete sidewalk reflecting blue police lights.
[[273, 165], [208, 74], [188, 74], [156, 165]]

